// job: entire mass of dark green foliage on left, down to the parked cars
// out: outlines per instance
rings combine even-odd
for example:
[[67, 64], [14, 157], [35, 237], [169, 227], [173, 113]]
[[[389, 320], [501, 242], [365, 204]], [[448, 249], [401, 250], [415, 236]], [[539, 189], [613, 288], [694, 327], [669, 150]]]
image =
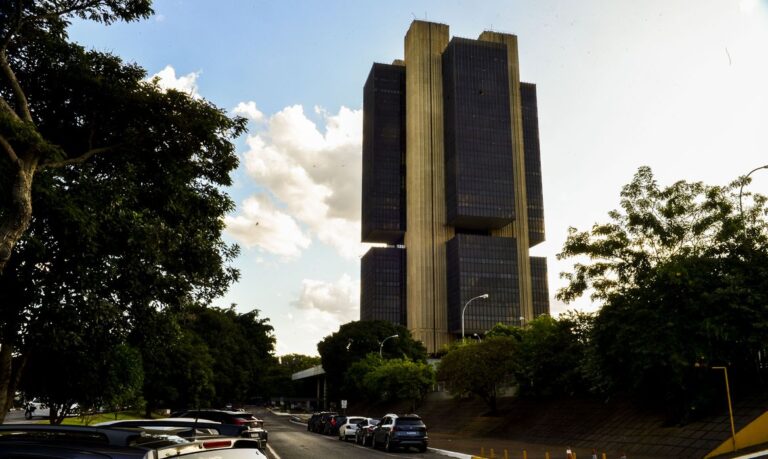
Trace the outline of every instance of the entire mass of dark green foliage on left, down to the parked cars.
[[[148, 411], [248, 398], [273, 364], [255, 312], [202, 309], [238, 278], [238, 248], [221, 233], [245, 120], [67, 39], [73, 18], [151, 12], [149, 0], [0, 2], [0, 64], [12, 70], [0, 77], [0, 137], [28, 166], [35, 212], [0, 260], [0, 345], [38, 376], [25, 390], [62, 406], [124, 404], [142, 374]], [[10, 157], [0, 154], [3, 231], [19, 218]], [[219, 334], [190, 325], [188, 308]], [[0, 369], [0, 387], [10, 379]]]

